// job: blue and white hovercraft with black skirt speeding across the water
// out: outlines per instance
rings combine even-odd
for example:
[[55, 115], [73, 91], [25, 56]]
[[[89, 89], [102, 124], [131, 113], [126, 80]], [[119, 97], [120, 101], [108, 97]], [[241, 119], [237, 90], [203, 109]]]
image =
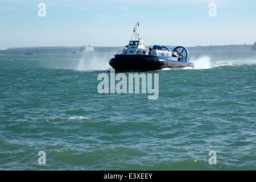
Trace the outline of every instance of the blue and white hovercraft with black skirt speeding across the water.
[[[175, 47], [173, 51], [166, 46], [159, 45], [146, 48], [143, 39], [138, 37], [137, 26], [139, 22], [134, 27], [129, 45], [109, 60], [109, 65], [113, 69], [116, 71], [151, 71], [163, 68], [194, 67], [194, 64], [189, 61], [187, 49], [182, 46]], [[134, 35], [135, 40], [133, 40]]]

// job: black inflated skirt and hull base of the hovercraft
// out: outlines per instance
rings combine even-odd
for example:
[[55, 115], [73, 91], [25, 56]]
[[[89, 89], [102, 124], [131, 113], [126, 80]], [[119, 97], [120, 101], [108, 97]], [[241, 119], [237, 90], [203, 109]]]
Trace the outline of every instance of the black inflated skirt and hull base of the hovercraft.
[[151, 71], [163, 68], [179, 69], [194, 67], [193, 63], [170, 60], [166, 56], [115, 55], [109, 65], [116, 71]]

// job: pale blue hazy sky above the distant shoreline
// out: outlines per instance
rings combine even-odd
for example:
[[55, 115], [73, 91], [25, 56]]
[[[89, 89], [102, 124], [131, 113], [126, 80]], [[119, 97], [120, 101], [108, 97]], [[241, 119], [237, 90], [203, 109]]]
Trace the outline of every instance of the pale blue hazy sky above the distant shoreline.
[[[39, 3], [46, 16], [38, 16]], [[210, 3], [217, 16], [209, 16]], [[256, 1], [0, 0], [0, 49], [125, 46], [137, 22], [146, 45], [253, 44]]]

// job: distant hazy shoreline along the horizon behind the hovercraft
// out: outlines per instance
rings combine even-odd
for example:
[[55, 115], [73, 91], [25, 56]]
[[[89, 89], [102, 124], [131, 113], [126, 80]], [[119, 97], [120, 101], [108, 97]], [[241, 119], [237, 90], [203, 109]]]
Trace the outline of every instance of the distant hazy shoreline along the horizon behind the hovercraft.
[[[166, 45], [163, 45], [166, 46]], [[195, 46], [185, 47], [189, 52], [193, 51], [253, 51], [253, 45], [226, 45], [226, 46]], [[152, 46], [146, 46], [152, 47]], [[166, 46], [170, 49], [176, 46]], [[27, 52], [34, 52], [35, 54], [46, 53], [71, 53], [72, 51], [78, 51], [81, 46], [77, 47], [65, 47], [65, 46], [52, 46], [52, 47], [14, 47], [0, 50], [0, 55], [24, 55]], [[96, 53], [111, 53], [122, 50], [123, 47], [100, 47], [94, 46], [94, 52]]]

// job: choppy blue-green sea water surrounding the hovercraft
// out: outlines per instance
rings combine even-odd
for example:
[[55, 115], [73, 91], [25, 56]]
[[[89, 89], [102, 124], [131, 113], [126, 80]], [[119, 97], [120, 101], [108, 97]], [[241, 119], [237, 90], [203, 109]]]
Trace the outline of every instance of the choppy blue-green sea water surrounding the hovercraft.
[[256, 169], [256, 52], [143, 72], [159, 74], [156, 100], [98, 93], [113, 55], [0, 55], [1, 170]]

